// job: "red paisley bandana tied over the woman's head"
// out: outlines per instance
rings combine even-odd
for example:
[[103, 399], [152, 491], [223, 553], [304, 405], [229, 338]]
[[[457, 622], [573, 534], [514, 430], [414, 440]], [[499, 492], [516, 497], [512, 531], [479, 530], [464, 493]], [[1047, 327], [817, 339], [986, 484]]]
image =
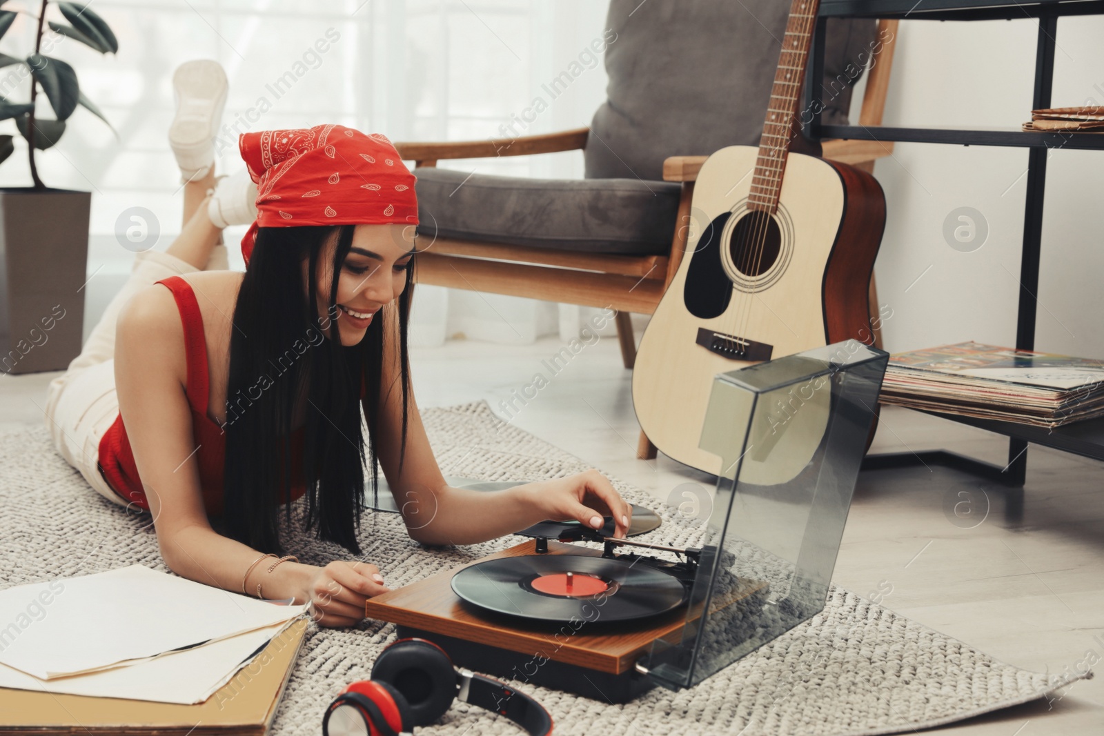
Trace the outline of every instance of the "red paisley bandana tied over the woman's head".
[[414, 174], [386, 136], [340, 125], [242, 134], [257, 184], [257, 218], [242, 238], [246, 265], [257, 227], [417, 224]]

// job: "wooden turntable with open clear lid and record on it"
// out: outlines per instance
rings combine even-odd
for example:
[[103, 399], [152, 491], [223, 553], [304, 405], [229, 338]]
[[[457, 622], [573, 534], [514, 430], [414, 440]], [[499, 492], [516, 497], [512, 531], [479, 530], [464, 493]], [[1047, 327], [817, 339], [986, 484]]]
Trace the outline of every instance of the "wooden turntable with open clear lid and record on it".
[[[888, 359], [849, 341], [718, 375], [700, 447], [722, 472], [697, 546], [580, 527], [561, 538], [601, 550], [539, 536], [370, 598], [365, 616], [457, 664], [603, 702], [693, 686], [824, 609]], [[828, 416], [795, 466], [777, 435], [803, 407]]]

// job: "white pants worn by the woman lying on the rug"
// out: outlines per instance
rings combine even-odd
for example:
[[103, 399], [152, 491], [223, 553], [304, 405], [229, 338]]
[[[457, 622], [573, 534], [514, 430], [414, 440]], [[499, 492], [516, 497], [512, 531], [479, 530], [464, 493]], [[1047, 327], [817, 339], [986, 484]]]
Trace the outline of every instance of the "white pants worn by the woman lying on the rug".
[[[230, 267], [225, 245], [214, 246], [206, 266], [208, 270]], [[144, 250], [135, 256], [130, 277], [107, 305], [81, 354], [46, 388], [45, 423], [54, 447], [66, 462], [81, 471], [89, 486], [123, 506], [129, 502], [112, 489], [99, 472], [98, 463], [99, 440], [119, 414], [115, 393], [115, 322], [123, 305], [135, 292], [162, 278], [198, 270], [187, 260], [163, 250]]]

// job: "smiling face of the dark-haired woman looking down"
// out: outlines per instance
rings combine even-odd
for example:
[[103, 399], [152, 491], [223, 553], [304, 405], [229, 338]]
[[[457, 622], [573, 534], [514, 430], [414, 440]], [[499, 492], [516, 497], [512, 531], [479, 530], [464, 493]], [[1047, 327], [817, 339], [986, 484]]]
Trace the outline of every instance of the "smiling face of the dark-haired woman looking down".
[[[318, 254], [315, 266], [317, 312], [326, 328], [326, 337], [332, 339], [337, 326], [341, 344], [349, 346], [364, 339], [375, 312], [397, 299], [406, 287], [406, 270], [414, 253], [414, 227], [357, 225], [352, 247], [338, 276], [337, 313], [328, 316], [333, 278], [331, 264], [337, 245], [338, 238], [331, 237]], [[307, 277], [307, 262], [304, 262], [305, 287]]]

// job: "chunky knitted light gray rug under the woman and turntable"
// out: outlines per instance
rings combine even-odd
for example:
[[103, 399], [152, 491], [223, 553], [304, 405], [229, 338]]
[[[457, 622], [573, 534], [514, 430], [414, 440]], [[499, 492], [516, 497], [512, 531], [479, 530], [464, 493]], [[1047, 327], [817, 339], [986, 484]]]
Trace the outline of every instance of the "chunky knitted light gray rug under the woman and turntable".
[[[423, 422], [447, 474], [484, 480], [541, 480], [587, 466], [503, 424], [484, 402], [431, 408]], [[692, 545], [697, 527], [671, 506], [612, 479], [629, 501], [656, 509], [664, 525], [649, 541]], [[0, 435], [0, 588], [86, 575], [140, 563], [170, 572], [148, 516], [103, 499], [56, 454], [43, 428]], [[299, 522], [300, 518], [296, 519]], [[458, 548], [421, 547], [395, 514], [362, 520], [363, 558], [392, 587], [448, 569], [521, 541], [507, 537]], [[341, 547], [298, 532], [288, 544], [301, 562], [348, 558]], [[276, 715], [274, 736], [319, 733], [322, 712], [349, 682], [368, 679], [394, 639], [389, 623], [352, 629], [310, 623]], [[1078, 678], [1029, 672], [999, 662], [888, 608], [834, 588], [825, 610], [691, 690], [655, 689], [611, 705], [521, 684], [551, 712], [558, 734], [891, 734], [951, 723], [1041, 697]], [[455, 705], [418, 733], [517, 734], [508, 721]]]

